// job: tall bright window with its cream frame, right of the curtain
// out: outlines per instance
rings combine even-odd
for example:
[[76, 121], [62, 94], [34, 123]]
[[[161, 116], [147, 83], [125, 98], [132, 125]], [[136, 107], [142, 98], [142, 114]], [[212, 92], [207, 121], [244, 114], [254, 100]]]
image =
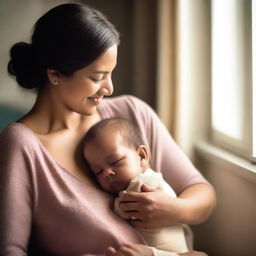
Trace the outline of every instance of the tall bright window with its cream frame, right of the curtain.
[[252, 159], [256, 159], [255, 8], [255, 1], [212, 0], [212, 140]]

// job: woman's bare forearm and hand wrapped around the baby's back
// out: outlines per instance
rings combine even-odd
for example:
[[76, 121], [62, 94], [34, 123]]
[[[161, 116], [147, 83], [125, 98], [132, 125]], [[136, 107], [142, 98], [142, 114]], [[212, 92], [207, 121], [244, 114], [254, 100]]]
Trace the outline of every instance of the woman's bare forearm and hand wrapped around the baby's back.
[[186, 188], [177, 198], [142, 185], [142, 192], [121, 192], [120, 209], [139, 228], [159, 228], [175, 223], [199, 224], [215, 207], [215, 192], [207, 184]]

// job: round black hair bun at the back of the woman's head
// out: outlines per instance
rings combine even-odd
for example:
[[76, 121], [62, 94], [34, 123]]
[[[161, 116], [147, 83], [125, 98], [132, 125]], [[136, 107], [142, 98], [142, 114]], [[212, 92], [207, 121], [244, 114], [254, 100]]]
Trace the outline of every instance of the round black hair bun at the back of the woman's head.
[[14, 44], [10, 50], [10, 57], [8, 72], [16, 76], [16, 81], [21, 87], [36, 88], [40, 72], [31, 44], [24, 42]]

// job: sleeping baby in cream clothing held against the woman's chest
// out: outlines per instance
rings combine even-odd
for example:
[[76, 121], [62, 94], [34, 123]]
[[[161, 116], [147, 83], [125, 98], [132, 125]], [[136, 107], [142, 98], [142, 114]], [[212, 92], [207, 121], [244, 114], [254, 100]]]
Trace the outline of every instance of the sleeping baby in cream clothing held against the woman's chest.
[[[149, 168], [148, 147], [143, 145], [137, 128], [129, 120], [110, 118], [96, 123], [85, 136], [83, 153], [99, 185], [107, 192], [141, 192], [141, 186], [146, 184], [176, 197], [161, 173]], [[125, 218], [118, 197], [114, 208]], [[169, 252], [188, 251], [181, 224], [138, 230], [149, 246]]]

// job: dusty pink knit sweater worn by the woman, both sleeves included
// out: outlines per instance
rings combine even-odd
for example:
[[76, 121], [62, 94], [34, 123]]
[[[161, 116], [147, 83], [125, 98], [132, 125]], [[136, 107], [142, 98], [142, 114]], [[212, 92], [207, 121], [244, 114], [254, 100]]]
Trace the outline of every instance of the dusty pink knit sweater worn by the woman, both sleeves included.
[[[102, 118], [132, 120], [179, 194], [207, 181], [176, 146], [152, 109], [133, 96], [106, 99]], [[0, 135], [0, 255], [105, 255], [110, 245], [144, 243], [113, 211], [113, 197], [84, 184], [57, 164], [36, 135], [19, 123]]]

